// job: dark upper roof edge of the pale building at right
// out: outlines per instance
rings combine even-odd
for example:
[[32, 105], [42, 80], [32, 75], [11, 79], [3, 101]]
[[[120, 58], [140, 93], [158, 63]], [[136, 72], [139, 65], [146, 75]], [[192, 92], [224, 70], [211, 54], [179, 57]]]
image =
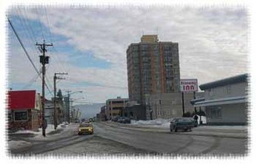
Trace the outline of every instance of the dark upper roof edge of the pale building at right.
[[209, 88], [226, 86], [228, 84], [246, 82], [247, 78], [248, 78], [248, 74], [241, 74], [241, 75], [238, 75], [238, 76], [228, 77], [228, 78], [224, 78], [222, 80], [217, 80], [217, 81], [213, 81], [213, 82], [210, 82], [210, 83], [202, 84], [202, 85], [199, 86], [199, 88], [201, 90], [207, 90]]

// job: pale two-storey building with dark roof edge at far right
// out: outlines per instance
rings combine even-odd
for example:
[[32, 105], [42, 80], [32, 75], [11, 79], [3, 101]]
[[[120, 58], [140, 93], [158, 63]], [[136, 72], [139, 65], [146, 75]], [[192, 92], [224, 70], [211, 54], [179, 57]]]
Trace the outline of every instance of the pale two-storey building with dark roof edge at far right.
[[199, 86], [204, 100], [194, 101], [194, 107], [206, 108], [209, 125], [247, 124], [248, 74], [242, 74]]

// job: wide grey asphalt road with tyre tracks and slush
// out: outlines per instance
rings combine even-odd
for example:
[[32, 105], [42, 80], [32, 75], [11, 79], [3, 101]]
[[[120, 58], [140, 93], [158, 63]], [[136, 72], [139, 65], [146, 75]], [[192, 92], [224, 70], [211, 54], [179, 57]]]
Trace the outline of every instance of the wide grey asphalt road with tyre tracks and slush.
[[[11, 155], [239, 155], [247, 152], [247, 139], [146, 132], [94, 122], [94, 135], [77, 135], [70, 125], [52, 139], [28, 141], [32, 145], [11, 149]], [[50, 137], [50, 136], [49, 136]], [[17, 138], [16, 138], [17, 139]], [[22, 138], [20, 138], [22, 139]]]

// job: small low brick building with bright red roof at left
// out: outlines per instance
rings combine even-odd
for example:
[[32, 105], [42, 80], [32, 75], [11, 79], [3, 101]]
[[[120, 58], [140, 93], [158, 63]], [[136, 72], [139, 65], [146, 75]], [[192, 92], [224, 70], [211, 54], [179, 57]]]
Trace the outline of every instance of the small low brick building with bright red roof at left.
[[8, 128], [37, 130], [40, 127], [40, 95], [35, 90], [8, 92]]

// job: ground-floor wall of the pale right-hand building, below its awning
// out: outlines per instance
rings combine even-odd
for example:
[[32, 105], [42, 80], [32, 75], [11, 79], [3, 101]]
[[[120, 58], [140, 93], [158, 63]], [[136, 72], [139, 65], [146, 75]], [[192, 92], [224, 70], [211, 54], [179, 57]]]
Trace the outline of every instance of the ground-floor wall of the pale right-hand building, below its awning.
[[[212, 111], [219, 109], [219, 117], [213, 117]], [[206, 119], [209, 125], [244, 125], [247, 124], [247, 107], [245, 103], [206, 107]]]

